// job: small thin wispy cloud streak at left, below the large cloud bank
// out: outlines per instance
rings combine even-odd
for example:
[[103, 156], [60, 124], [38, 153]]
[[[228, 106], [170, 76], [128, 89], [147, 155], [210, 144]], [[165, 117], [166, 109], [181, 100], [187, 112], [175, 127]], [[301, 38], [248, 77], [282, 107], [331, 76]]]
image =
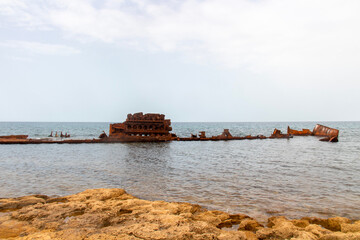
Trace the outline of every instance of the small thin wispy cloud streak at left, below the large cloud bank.
[[69, 46], [28, 41], [0, 42], [0, 47], [14, 48], [16, 50], [26, 51], [30, 54], [42, 55], [69, 56], [80, 53], [78, 49]]

